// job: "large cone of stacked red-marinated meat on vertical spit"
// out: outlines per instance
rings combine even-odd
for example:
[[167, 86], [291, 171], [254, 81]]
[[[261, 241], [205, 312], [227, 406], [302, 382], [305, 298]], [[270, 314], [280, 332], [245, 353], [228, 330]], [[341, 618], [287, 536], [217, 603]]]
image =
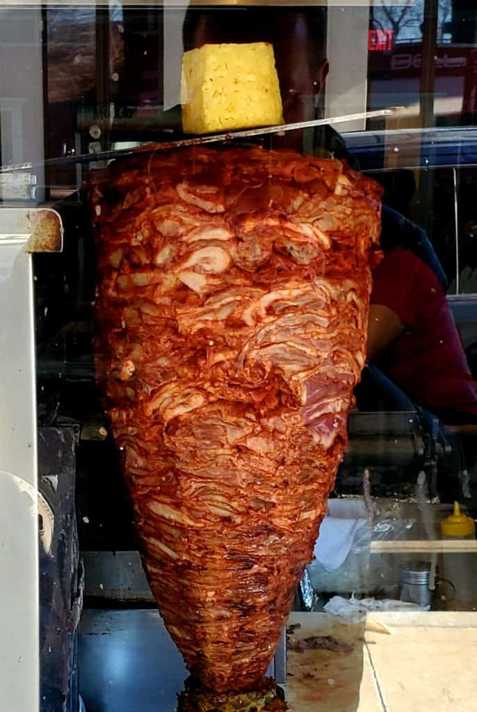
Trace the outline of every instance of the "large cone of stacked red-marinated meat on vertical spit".
[[187, 667], [266, 672], [365, 364], [380, 189], [259, 148], [138, 152], [93, 186], [98, 368], [147, 575]]

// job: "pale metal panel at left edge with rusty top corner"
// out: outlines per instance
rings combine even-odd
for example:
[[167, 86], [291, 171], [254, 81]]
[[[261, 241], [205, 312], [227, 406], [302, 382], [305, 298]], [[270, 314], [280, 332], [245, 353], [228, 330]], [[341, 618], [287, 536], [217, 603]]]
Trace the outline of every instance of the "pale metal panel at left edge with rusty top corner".
[[[0, 209], [0, 689], [9, 712], [38, 712], [39, 704], [35, 339], [26, 250], [46, 212], [43, 224], [61, 248], [54, 211]], [[43, 249], [50, 248], [46, 240]]]

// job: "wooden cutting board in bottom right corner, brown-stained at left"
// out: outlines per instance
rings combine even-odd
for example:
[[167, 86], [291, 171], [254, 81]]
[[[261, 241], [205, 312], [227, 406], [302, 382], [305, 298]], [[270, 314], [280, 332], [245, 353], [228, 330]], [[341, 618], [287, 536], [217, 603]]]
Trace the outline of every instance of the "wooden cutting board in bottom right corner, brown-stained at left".
[[294, 613], [291, 637], [332, 635], [351, 652], [288, 651], [292, 712], [477, 711], [477, 613], [376, 613], [391, 634], [320, 613]]

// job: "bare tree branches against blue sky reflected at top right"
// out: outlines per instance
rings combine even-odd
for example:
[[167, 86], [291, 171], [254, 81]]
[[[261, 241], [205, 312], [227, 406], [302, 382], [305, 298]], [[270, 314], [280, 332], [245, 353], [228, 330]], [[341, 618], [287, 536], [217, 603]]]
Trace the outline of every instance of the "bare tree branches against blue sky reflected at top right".
[[[416, 42], [422, 38], [421, 23], [426, 0], [374, 0], [373, 25], [379, 30], [393, 30], [394, 41]], [[444, 25], [452, 16], [452, 0], [439, 0], [437, 41], [442, 41]]]

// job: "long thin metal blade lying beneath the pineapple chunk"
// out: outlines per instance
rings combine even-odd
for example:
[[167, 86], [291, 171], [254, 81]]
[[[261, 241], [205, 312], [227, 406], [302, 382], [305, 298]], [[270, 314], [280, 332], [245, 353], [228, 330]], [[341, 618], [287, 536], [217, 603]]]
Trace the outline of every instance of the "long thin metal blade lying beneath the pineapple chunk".
[[[344, 114], [341, 116], [331, 116], [327, 119], [313, 119], [311, 121], [300, 121], [294, 124], [283, 124], [281, 126], [266, 126], [263, 128], [249, 129], [246, 131], [229, 131], [222, 134], [211, 134], [209, 136], [198, 136], [196, 138], [184, 138], [178, 141], [165, 141], [162, 143], [145, 144], [145, 149], [142, 152], [167, 151], [172, 148], [186, 148], [188, 146], [201, 146], [206, 143], [216, 143], [221, 141], [229, 141], [235, 138], [252, 138], [255, 136], [263, 136], [266, 134], [282, 133], [294, 131], [297, 129], [313, 128], [315, 126], [325, 126], [327, 124], [340, 124], [347, 121], [356, 121], [358, 119], [371, 119], [379, 116], [389, 116], [397, 111], [397, 107], [389, 109], [377, 109], [375, 111], [362, 111], [357, 114]], [[150, 144], [150, 149], [147, 146]], [[33, 163], [12, 163], [0, 167], [0, 173], [12, 173], [15, 171], [26, 171], [43, 165], [64, 165], [70, 163], [90, 163], [100, 160], [108, 160], [118, 156], [131, 155], [137, 152], [135, 148], [120, 148], [111, 151], [100, 151], [98, 153], [84, 153], [76, 156], [61, 156], [58, 158], [47, 158], [42, 164]]]

